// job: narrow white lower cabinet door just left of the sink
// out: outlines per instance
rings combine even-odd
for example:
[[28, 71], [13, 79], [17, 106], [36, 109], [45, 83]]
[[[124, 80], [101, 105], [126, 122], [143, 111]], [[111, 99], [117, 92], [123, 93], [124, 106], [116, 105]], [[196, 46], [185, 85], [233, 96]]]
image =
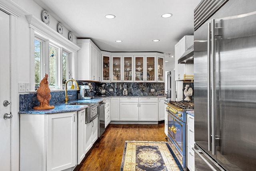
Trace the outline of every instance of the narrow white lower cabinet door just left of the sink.
[[85, 146], [84, 146], [84, 141], [85, 141], [85, 109], [78, 111], [78, 146], [77, 146], [77, 156], [78, 156], [78, 165], [81, 163], [82, 159], [85, 157]]

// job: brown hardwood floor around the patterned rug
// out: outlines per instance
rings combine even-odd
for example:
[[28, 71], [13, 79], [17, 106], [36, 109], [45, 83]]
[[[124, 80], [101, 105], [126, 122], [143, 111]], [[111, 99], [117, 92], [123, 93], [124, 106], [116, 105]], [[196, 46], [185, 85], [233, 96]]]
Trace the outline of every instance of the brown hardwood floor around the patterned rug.
[[110, 124], [79, 171], [120, 171], [125, 141], [166, 142], [164, 124]]

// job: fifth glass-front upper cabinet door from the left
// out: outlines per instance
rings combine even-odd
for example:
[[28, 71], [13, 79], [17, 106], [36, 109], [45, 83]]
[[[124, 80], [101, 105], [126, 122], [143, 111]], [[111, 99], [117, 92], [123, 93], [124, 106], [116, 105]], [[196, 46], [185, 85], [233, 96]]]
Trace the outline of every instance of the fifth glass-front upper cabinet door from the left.
[[156, 56], [146, 56], [146, 81], [147, 82], [154, 82], [155, 79], [155, 65], [156, 65]]

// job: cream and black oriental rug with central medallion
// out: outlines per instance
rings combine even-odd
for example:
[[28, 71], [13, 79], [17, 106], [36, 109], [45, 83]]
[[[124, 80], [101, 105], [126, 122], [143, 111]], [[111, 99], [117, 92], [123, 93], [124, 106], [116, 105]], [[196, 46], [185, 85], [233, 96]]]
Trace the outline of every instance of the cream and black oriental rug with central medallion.
[[120, 171], [182, 171], [167, 142], [126, 141]]

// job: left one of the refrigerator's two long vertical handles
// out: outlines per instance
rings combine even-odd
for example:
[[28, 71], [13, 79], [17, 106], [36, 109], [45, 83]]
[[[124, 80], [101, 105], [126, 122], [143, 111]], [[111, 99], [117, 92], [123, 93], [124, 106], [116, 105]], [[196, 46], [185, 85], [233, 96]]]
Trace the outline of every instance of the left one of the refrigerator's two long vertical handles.
[[208, 119], [208, 151], [211, 151], [211, 122], [210, 122], [210, 93], [211, 93], [211, 23], [208, 23], [208, 34], [207, 34], [207, 119]]

